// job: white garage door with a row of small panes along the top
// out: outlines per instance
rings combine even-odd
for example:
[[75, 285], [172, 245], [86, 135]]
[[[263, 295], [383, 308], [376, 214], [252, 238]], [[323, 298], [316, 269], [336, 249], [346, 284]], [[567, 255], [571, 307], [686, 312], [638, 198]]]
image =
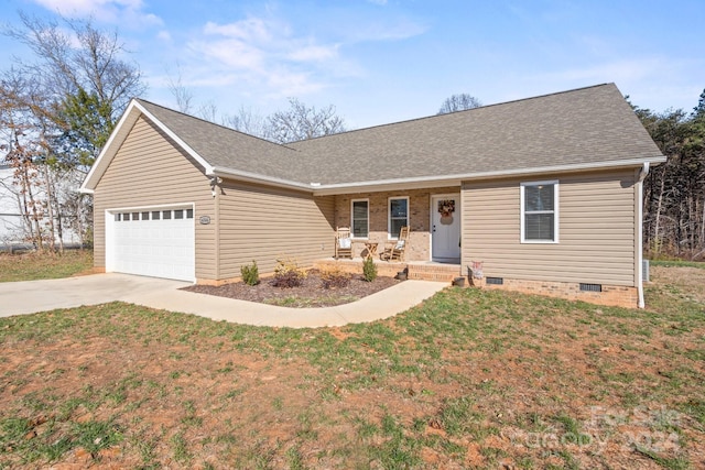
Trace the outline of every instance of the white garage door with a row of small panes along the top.
[[106, 271], [195, 280], [193, 207], [109, 211]]

